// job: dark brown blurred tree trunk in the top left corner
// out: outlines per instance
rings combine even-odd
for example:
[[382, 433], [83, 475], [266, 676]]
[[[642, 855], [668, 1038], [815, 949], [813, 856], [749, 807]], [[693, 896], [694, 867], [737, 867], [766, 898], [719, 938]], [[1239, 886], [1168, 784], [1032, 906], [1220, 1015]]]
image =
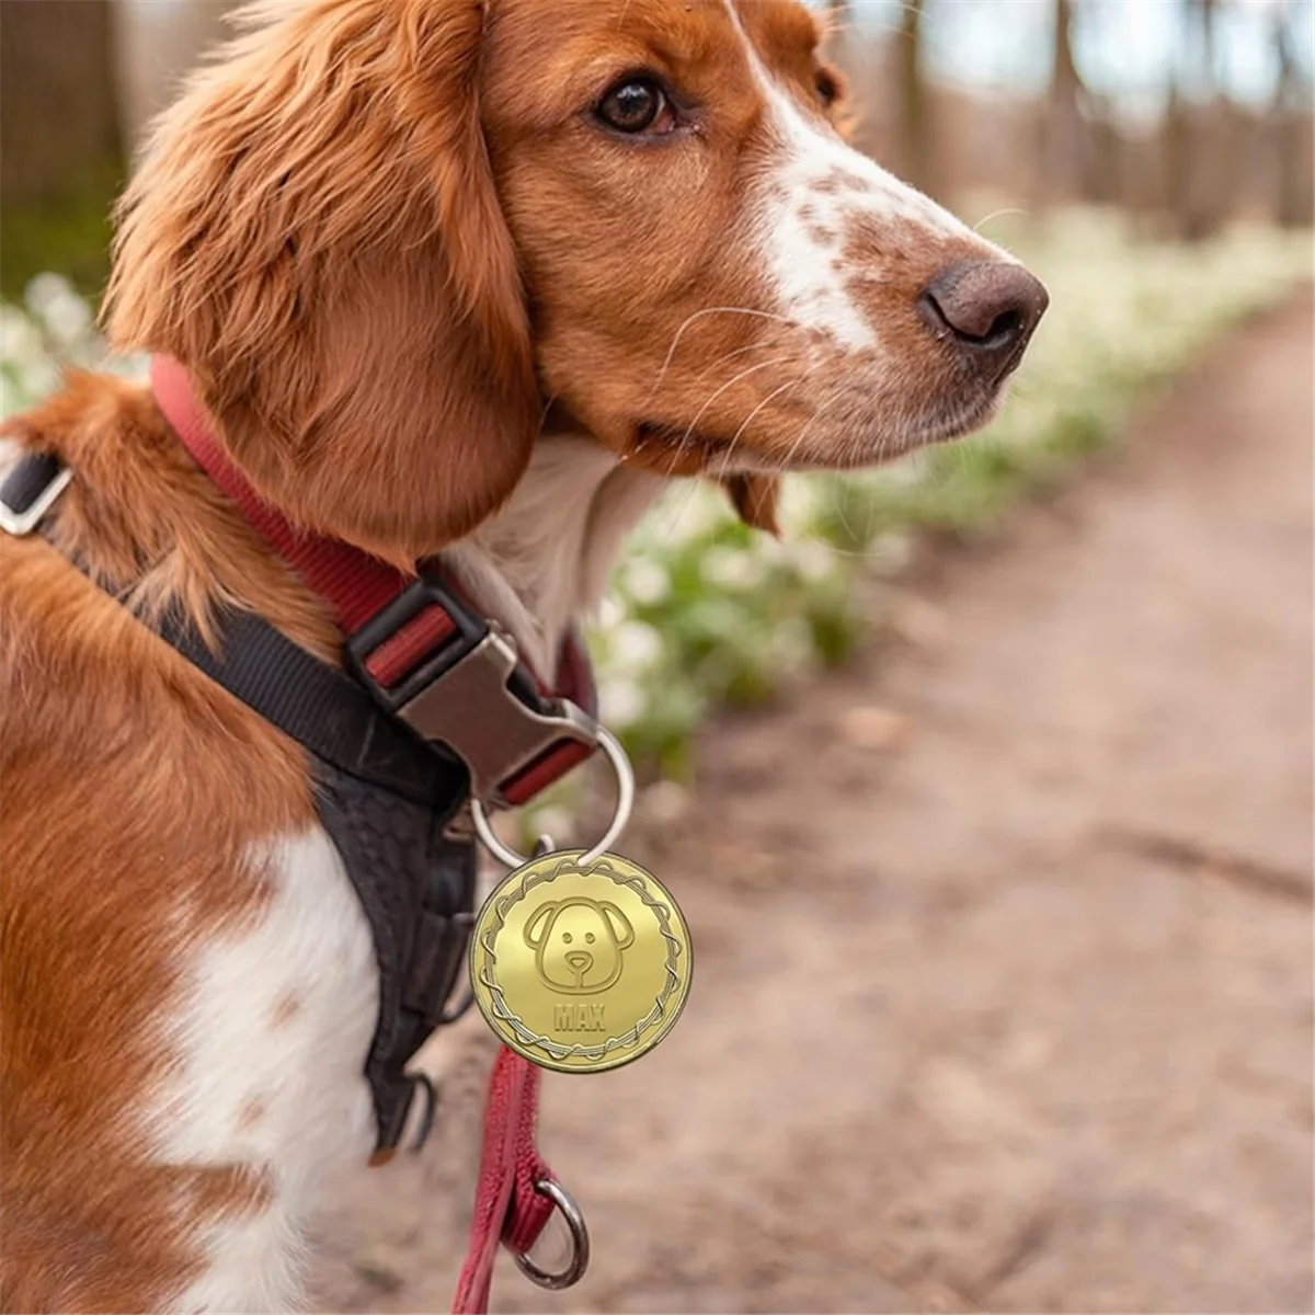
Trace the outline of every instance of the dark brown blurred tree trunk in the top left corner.
[[122, 143], [110, 0], [3, 0], [0, 142], [0, 208], [112, 185]]

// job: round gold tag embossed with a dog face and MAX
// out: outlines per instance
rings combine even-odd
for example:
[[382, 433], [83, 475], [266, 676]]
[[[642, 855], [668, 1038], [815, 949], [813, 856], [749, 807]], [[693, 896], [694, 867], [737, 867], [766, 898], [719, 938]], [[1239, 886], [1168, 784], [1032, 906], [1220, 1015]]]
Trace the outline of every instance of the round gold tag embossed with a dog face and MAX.
[[559, 1073], [598, 1073], [651, 1051], [689, 994], [689, 928], [643, 868], [583, 849], [533, 859], [489, 896], [471, 984], [508, 1047]]

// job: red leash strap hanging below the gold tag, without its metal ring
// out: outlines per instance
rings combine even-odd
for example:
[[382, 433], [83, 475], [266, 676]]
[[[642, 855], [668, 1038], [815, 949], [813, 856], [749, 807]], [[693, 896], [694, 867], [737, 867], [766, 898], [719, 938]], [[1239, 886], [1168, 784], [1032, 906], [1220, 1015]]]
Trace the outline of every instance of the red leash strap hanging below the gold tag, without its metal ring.
[[552, 1173], [535, 1144], [538, 1118], [539, 1070], [504, 1047], [489, 1078], [471, 1245], [452, 1315], [487, 1315], [498, 1244], [525, 1257], [552, 1218], [540, 1189]]

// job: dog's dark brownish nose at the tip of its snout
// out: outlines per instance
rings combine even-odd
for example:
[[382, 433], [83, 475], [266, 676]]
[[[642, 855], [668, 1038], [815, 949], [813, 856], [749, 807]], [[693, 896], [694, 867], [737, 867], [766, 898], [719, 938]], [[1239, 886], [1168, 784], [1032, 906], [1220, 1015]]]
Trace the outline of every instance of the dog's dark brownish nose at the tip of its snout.
[[1003, 377], [1023, 356], [1049, 293], [1010, 260], [964, 260], [938, 275], [919, 305], [973, 370]]

